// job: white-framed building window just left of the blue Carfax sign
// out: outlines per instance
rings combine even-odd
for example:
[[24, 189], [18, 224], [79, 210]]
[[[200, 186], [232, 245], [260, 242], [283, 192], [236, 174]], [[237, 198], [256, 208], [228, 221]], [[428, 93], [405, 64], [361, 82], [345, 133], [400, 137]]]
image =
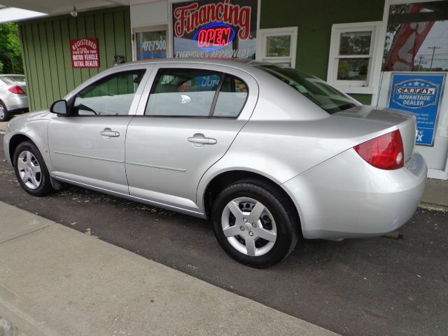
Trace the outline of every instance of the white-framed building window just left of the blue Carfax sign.
[[333, 25], [328, 83], [346, 93], [372, 94], [381, 22]]

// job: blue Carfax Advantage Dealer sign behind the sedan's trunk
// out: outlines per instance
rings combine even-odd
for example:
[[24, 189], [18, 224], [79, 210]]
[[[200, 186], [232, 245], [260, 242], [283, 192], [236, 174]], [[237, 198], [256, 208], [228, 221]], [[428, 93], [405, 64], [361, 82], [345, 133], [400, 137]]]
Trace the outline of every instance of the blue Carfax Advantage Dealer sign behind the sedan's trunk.
[[389, 107], [415, 114], [416, 144], [434, 146], [444, 74], [393, 73]]

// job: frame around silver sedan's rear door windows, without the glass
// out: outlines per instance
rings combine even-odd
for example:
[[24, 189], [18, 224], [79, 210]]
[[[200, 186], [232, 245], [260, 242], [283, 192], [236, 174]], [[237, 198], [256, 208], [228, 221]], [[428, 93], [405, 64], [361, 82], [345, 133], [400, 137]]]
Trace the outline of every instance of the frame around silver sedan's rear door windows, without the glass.
[[[151, 94], [153, 94], [155, 87], [158, 84], [158, 80], [160, 79], [160, 75], [164, 71], [214, 71], [216, 73], [219, 73], [221, 75], [221, 80], [218, 84], [218, 87], [216, 88], [214, 99], [210, 106], [209, 116], [164, 116], [164, 115], [147, 115], [147, 114], [145, 114], [146, 109], [148, 108], [149, 99], [151, 99]], [[233, 116], [233, 117], [214, 116], [216, 102], [218, 102], [219, 93], [221, 92], [221, 87], [223, 86], [225, 76], [232, 76], [233, 78], [237, 78], [238, 80], [241, 80], [241, 82], [244, 83], [244, 85], [246, 85], [246, 88], [247, 88], [247, 94], [246, 94], [246, 99], [244, 100], [244, 104], [241, 106], [241, 109], [239, 110], [238, 115]], [[236, 76], [232, 73], [228, 73], [228, 72], [216, 70], [216, 69], [171, 67], [171, 66], [165, 67], [164, 66], [164, 67], [155, 69], [155, 76], [153, 78], [153, 83], [151, 83], [151, 87], [149, 88], [148, 98], [146, 99], [146, 102], [144, 103], [143, 115], [141, 115], [141, 117], [146, 117], [146, 118], [190, 118], [190, 119], [191, 118], [193, 118], [193, 119], [238, 119], [239, 116], [241, 116], [242, 111], [244, 111], [244, 107], [246, 107], [248, 97], [249, 97], [249, 85], [246, 83], [246, 80], [244, 80], [243, 78]]]

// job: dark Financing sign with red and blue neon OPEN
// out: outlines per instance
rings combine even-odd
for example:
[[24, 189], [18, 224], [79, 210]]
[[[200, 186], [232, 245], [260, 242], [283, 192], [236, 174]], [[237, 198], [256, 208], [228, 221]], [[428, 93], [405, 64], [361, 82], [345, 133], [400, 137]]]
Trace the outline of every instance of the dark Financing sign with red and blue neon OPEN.
[[255, 59], [258, 0], [172, 3], [174, 57]]

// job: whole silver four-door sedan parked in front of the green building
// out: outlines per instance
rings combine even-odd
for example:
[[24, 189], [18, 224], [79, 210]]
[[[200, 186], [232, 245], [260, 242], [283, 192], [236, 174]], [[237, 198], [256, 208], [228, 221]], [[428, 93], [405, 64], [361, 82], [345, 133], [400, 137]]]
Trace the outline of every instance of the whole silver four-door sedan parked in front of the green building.
[[94, 76], [3, 144], [31, 195], [69, 183], [211, 218], [232, 258], [269, 267], [302, 238], [405, 224], [426, 181], [415, 131], [294, 69], [165, 59]]

